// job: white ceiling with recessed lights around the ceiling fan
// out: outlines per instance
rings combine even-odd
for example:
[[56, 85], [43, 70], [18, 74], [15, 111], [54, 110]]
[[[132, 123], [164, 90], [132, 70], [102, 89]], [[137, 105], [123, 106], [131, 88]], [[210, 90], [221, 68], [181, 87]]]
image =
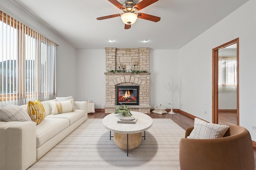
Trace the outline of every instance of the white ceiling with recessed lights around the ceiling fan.
[[[108, 0], [12, 0], [76, 49], [180, 49], [248, 0], [159, 0], [139, 12], [158, 22], [138, 18], [124, 29], [122, 13]], [[118, 0], [121, 4], [125, 0]], [[141, 0], [134, 0], [138, 3]], [[108, 39], [114, 39], [108, 42]], [[148, 39], [143, 43], [141, 40]]]

